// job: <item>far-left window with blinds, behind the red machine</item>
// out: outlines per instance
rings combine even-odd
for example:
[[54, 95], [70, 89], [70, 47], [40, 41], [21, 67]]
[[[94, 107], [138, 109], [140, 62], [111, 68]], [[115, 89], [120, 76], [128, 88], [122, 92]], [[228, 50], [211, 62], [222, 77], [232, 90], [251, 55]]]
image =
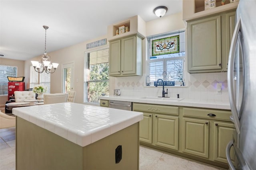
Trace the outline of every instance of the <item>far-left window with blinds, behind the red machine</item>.
[[17, 67], [0, 65], [0, 95], [8, 94], [8, 78], [17, 77]]

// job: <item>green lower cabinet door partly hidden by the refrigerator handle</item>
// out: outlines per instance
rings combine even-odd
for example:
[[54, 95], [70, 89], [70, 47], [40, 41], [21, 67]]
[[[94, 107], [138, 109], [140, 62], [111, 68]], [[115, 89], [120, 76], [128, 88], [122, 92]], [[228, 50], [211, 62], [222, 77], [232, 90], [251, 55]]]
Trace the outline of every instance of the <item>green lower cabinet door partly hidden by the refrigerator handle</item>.
[[[226, 146], [236, 133], [235, 125], [232, 123], [214, 122], [214, 160], [227, 163]], [[230, 150], [230, 157], [234, 164], [234, 148]]]

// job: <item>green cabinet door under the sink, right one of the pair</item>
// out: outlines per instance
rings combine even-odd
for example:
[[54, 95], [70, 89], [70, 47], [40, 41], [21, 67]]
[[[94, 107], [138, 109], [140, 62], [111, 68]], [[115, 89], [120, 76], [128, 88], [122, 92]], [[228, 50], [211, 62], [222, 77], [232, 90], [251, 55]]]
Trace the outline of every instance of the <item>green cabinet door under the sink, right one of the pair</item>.
[[154, 115], [154, 144], [178, 150], [179, 118], [168, 115]]

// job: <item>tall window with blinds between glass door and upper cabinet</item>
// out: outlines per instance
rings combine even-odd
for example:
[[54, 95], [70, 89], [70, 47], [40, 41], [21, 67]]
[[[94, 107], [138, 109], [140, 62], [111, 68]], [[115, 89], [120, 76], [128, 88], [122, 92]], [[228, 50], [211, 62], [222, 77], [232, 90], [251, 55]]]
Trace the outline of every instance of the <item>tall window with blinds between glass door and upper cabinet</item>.
[[84, 103], [100, 104], [99, 96], [109, 95], [108, 58], [108, 49], [86, 53]]

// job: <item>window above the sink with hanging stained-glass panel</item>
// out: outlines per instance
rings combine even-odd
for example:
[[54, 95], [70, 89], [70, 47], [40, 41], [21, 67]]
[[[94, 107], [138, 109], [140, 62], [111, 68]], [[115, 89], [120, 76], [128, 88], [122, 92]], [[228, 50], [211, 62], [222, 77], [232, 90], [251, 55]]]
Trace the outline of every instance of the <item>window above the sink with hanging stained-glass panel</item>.
[[159, 78], [184, 85], [185, 31], [148, 37], [150, 85]]

